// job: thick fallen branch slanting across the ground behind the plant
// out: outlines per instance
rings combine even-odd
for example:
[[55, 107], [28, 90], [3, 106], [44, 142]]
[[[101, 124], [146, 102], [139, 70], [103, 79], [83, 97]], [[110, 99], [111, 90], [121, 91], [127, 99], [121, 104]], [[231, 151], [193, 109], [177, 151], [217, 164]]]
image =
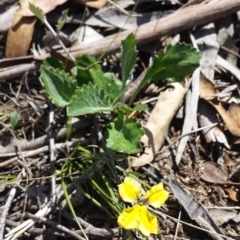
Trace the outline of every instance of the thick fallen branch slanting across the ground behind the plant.
[[[142, 24], [136, 29], [126, 30], [117, 35], [111, 35], [94, 43], [83, 43], [78, 47], [72, 48], [70, 52], [74, 57], [83, 54], [96, 56], [100, 55], [106, 49], [108, 53], [111, 53], [117, 51], [120, 48], [121, 41], [132, 32], [135, 34], [138, 45], [143, 45], [160, 37], [179, 33], [194, 26], [212, 22], [239, 10], [240, 1], [236, 0], [218, 0], [208, 4], [197, 4], [179, 9], [169, 16], [159, 20]], [[60, 52], [63, 53], [62, 51]], [[32, 60], [35, 59], [42, 61], [48, 56], [48, 54], [37, 57], [32, 56]], [[28, 57], [27, 61], [29, 62], [29, 60], [30, 59]], [[0, 61], [0, 64], [4, 64], [4, 60]], [[39, 66], [39, 64], [33, 65], [32, 63], [29, 63], [25, 64], [24, 68], [21, 68], [21, 65], [17, 65], [11, 69], [0, 69], [0, 80], [12, 78], [12, 74], [15, 77], [17, 73], [18, 75], [25, 73], [28, 71], [27, 65], [29, 65], [29, 70], [31, 71], [37, 70]]]

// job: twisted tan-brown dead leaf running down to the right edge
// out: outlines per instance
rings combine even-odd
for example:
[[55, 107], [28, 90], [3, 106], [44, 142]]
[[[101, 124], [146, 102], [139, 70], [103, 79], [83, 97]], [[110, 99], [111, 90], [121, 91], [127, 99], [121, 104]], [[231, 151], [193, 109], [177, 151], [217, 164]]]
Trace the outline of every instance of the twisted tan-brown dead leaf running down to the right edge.
[[220, 105], [219, 101], [217, 101], [216, 99], [214, 101], [211, 101], [213, 99], [211, 96], [213, 96], [214, 94], [215, 88], [213, 84], [202, 76], [200, 80], [200, 96], [207, 100], [212, 106], [214, 106], [214, 108], [222, 117], [231, 134], [236, 137], [240, 137], [240, 123], [236, 122], [231, 113], [225, 110], [222, 105]]

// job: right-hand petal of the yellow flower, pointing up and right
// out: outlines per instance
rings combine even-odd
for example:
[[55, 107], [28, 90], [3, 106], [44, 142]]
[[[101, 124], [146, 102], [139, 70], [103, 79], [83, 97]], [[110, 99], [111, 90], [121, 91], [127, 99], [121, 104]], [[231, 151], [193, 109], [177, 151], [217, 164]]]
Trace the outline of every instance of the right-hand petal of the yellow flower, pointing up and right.
[[163, 183], [159, 183], [148, 190], [142, 199], [147, 200], [147, 204], [159, 208], [166, 202], [168, 196], [169, 193], [164, 190]]

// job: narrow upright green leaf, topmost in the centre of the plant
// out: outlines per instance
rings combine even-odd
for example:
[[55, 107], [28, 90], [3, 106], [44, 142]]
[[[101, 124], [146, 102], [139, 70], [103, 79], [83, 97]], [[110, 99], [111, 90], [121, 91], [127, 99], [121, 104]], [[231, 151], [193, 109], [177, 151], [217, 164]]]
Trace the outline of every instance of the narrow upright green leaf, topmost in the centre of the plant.
[[122, 41], [121, 47], [122, 82], [124, 86], [126, 81], [129, 79], [130, 74], [134, 71], [137, 54], [136, 39], [131, 33], [125, 40]]

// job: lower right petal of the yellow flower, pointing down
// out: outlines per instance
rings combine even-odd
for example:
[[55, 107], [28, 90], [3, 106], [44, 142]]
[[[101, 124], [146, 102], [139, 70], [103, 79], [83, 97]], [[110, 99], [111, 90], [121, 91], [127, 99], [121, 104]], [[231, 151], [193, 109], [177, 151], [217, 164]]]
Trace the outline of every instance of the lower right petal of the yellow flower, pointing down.
[[158, 233], [158, 221], [157, 217], [154, 216], [147, 210], [146, 206], [140, 206], [140, 224], [138, 226], [139, 231], [144, 236], [149, 236], [151, 233]]

